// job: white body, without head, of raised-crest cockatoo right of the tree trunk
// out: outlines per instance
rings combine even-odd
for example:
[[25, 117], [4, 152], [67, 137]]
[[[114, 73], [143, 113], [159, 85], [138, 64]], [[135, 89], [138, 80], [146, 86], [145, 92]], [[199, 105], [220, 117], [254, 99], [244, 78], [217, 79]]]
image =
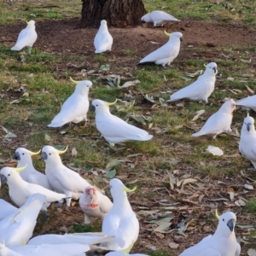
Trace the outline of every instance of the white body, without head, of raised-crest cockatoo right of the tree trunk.
[[154, 50], [151, 54], [147, 55], [140, 61], [140, 63], [144, 62], [154, 62], [166, 58], [175, 58], [179, 52], [179, 47], [177, 44], [169, 44], [166, 43], [159, 49]]

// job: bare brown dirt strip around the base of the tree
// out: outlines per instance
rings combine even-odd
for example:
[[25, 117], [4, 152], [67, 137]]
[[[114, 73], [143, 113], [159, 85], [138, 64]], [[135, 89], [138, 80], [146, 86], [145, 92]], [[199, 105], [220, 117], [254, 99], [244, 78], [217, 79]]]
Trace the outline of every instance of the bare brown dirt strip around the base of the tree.
[[[80, 28], [79, 22], [79, 18], [38, 21], [36, 23], [38, 40], [34, 47], [48, 52], [81, 54], [90, 60], [95, 55], [93, 40], [97, 29]], [[13, 45], [20, 30], [25, 26], [24, 23], [0, 26], [0, 42]], [[157, 28], [153, 28], [151, 24], [127, 29], [110, 27], [109, 32], [113, 36], [112, 54], [115, 58], [123, 57], [124, 50], [130, 49], [137, 56], [143, 57], [166, 43], [167, 38], [164, 29], [167, 32], [179, 31], [183, 33], [181, 48], [189, 44], [206, 48], [230, 45], [249, 46], [254, 45], [256, 40], [256, 31], [245, 25], [219, 25], [198, 20], [169, 22], [166, 23], [166, 27]], [[149, 41], [159, 44], [152, 44]]]

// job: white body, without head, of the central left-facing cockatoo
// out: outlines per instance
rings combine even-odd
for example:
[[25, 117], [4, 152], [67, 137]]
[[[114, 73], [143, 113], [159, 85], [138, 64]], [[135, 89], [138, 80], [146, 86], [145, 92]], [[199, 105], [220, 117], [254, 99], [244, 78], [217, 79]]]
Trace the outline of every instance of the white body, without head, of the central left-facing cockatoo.
[[108, 142], [113, 143], [125, 140], [146, 141], [153, 137], [148, 134], [148, 131], [129, 125], [113, 114], [109, 114], [108, 118], [96, 115], [96, 127]]

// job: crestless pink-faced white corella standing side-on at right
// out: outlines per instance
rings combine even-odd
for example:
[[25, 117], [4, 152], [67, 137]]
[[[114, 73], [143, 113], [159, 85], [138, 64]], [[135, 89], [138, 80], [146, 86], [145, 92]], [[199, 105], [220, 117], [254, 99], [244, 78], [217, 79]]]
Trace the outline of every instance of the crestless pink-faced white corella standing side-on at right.
[[192, 134], [193, 137], [199, 137], [202, 135], [213, 135], [215, 139], [218, 134], [228, 131], [231, 132], [230, 125], [233, 119], [233, 112], [236, 109], [236, 102], [230, 99], [218, 109], [216, 113], [213, 113], [201, 130]]

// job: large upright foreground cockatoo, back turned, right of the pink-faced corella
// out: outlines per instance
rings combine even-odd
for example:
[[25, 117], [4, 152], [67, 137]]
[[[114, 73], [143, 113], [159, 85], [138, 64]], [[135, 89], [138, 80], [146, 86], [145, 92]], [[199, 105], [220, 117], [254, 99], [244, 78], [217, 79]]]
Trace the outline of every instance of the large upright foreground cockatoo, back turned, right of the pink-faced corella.
[[127, 189], [118, 178], [113, 178], [110, 180], [109, 189], [113, 197], [113, 207], [103, 218], [102, 232], [107, 236], [115, 236], [115, 239], [104, 243], [104, 246], [109, 250], [121, 251], [137, 241], [139, 234], [139, 222], [126, 195], [126, 192], [135, 191], [136, 187]]

